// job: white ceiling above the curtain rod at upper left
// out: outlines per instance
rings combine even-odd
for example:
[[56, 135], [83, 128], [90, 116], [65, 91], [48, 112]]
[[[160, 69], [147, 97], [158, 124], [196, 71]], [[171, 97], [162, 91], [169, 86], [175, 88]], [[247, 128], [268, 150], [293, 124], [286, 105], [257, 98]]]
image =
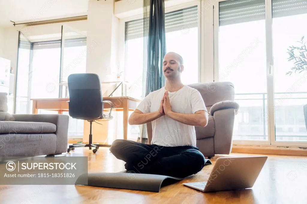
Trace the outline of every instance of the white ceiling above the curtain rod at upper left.
[[87, 15], [90, 0], [0, 0], [0, 27]]

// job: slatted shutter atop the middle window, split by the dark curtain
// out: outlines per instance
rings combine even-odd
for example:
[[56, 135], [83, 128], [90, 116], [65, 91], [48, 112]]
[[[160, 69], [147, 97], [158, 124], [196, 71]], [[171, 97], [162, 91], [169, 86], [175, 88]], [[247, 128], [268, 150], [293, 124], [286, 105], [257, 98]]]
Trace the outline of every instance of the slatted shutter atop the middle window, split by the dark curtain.
[[[165, 32], [197, 27], [197, 21], [197, 6], [165, 13]], [[143, 31], [143, 18], [128, 21], [125, 25], [125, 39], [141, 38]]]

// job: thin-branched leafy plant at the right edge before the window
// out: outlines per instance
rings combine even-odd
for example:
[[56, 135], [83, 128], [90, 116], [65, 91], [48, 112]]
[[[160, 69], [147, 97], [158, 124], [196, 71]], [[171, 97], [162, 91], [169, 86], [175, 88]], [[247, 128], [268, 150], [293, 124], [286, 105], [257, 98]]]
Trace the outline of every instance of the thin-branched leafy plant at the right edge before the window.
[[[301, 38], [301, 41], [297, 41], [300, 43], [300, 47], [298, 46], [290, 46], [290, 49], [288, 50], [289, 58], [288, 62], [293, 61], [294, 66], [291, 68], [291, 70], [294, 70], [294, 72], [303, 72], [307, 71], [307, 47], [306, 42], [304, 42], [304, 36]], [[289, 71], [286, 74], [291, 75], [293, 71]], [[303, 106], [304, 110], [304, 117], [305, 117], [305, 125], [307, 130], [307, 104]]]

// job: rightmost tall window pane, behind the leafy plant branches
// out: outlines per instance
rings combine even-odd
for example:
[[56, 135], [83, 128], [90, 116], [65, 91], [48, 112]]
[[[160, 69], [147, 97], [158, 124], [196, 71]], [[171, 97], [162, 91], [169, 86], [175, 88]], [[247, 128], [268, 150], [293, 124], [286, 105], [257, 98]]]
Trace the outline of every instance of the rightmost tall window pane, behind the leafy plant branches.
[[[307, 19], [307, 1], [272, 3], [276, 140], [307, 142], [303, 112], [307, 104], [307, 27], [301, 24], [301, 19]], [[289, 71], [293, 73], [286, 74]]]

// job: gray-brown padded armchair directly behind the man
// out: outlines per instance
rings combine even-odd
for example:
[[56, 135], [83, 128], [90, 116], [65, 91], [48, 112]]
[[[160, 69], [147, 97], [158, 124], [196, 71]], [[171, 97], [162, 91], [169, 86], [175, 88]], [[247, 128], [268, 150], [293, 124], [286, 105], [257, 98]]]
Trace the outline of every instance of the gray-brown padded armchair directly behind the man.
[[188, 86], [200, 92], [209, 114], [207, 126], [195, 127], [196, 146], [205, 157], [230, 154], [235, 115], [239, 110], [239, 104], [234, 101], [234, 85], [211, 82]]

